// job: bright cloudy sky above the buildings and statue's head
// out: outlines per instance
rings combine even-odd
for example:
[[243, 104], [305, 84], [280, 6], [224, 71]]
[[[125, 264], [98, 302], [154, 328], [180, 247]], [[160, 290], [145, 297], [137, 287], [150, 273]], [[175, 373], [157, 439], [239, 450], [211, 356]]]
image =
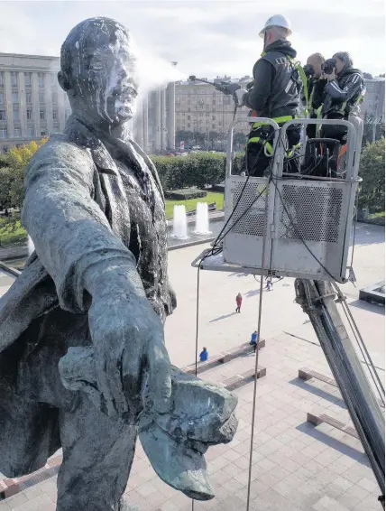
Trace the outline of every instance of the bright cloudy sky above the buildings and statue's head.
[[75, 24], [102, 15], [127, 26], [140, 47], [177, 60], [185, 76], [241, 77], [252, 74], [262, 51], [258, 34], [266, 19], [284, 14], [302, 62], [314, 51], [326, 57], [350, 51], [355, 67], [377, 75], [385, 70], [383, 9], [382, 0], [0, 0], [0, 51], [59, 56]]

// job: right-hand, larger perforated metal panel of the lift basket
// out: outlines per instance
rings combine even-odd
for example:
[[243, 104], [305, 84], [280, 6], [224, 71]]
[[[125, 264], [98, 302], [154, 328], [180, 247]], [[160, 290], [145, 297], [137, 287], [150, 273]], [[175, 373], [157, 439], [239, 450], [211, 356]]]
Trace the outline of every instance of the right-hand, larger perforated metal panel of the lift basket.
[[343, 190], [283, 184], [279, 237], [338, 243]]

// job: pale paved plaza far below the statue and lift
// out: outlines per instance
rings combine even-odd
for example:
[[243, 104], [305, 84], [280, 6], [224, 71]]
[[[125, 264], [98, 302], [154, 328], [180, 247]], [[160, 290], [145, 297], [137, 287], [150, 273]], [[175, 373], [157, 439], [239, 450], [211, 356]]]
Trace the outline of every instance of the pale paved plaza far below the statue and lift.
[[[347, 283], [341, 288], [384, 381], [384, 308], [358, 300], [360, 288], [384, 278], [384, 228], [360, 224], [356, 241], [356, 287]], [[197, 270], [190, 263], [204, 248], [192, 246], [169, 255], [170, 282], [179, 304], [165, 332], [171, 361], [180, 367], [195, 358]], [[0, 294], [11, 282], [0, 274]], [[244, 300], [241, 314], [236, 314], [234, 299], [239, 292]], [[262, 298], [266, 347], [260, 351], [259, 363], [267, 367], [267, 376], [257, 382], [251, 511], [381, 510], [379, 489], [360, 442], [326, 424], [307, 423], [307, 413], [350, 421], [335, 387], [298, 377], [300, 367], [330, 372], [308, 316], [293, 302], [293, 279], [275, 283]], [[201, 272], [198, 348], [206, 346], [210, 356], [249, 340], [257, 328], [258, 302], [259, 283], [252, 275]], [[248, 355], [208, 369], [200, 377], [224, 382], [253, 365], [253, 355]], [[195, 502], [194, 511], [245, 509], [253, 383], [234, 392], [239, 398], [234, 441], [210, 449], [206, 456], [216, 497]], [[126, 494], [141, 511], [192, 509], [187, 497], [155, 475], [140, 443]], [[54, 477], [0, 501], [0, 511], [53, 511], [55, 498]]]

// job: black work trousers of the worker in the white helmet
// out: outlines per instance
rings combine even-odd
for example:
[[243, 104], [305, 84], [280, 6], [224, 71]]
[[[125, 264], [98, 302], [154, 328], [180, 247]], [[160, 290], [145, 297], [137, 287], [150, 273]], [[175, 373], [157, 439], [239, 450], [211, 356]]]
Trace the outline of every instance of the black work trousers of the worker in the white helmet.
[[[250, 142], [251, 139], [259, 138], [258, 142]], [[264, 172], [268, 170], [271, 163], [271, 156], [267, 156], [268, 144], [273, 147], [274, 130], [270, 125], [264, 125], [257, 129], [251, 130], [248, 136], [248, 144], [244, 155], [244, 170], [247, 174], [254, 177], [262, 177]], [[288, 149], [289, 151], [294, 145], [300, 141], [300, 126], [291, 125], [287, 130]], [[279, 141], [280, 144], [280, 141]], [[264, 145], [266, 151], [264, 152]], [[299, 172], [299, 161], [296, 155], [291, 155], [290, 159], [284, 162], [284, 172]]]

